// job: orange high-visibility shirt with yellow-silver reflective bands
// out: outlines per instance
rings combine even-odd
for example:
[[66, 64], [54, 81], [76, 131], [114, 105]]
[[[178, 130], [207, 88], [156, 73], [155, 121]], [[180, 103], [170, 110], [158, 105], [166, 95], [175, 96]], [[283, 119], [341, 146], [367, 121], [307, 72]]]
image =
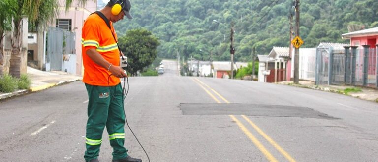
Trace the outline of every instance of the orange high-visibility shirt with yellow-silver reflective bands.
[[111, 32], [114, 33], [116, 39], [118, 38], [112, 22], [110, 22], [110, 27], [112, 30], [109, 29], [105, 21], [97, 14], [90, 15], [84, 22], [81, 33], [81, 47], [84, 64], [83, 82], [87, 84], [114, 86], [120, 83], [120, 79], [115, 76], [111, 76], [108, 82], [111, 72], [107, 70], [107, 67], [103, 68], [97, 65], [86, 53], [88, 49], [94, 48], [113, 66], [119, 66], [120, 52]]

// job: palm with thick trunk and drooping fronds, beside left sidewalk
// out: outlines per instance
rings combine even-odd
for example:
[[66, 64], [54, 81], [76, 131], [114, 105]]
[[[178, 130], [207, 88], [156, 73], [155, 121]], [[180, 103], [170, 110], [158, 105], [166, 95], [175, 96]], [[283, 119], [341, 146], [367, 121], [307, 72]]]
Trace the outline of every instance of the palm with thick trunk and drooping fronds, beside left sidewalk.
[[[46, 26], [52, 22], [58, 13], [58, 0], [10, 0], [13, 5], [13, 37], [12, 54], [10, 58], [9, 73], [13, 77], [21, 75], [21, 25], [24, 16], [29, 22], [36, 25]], [[38, 29], [43, 29], [38, 27]]]

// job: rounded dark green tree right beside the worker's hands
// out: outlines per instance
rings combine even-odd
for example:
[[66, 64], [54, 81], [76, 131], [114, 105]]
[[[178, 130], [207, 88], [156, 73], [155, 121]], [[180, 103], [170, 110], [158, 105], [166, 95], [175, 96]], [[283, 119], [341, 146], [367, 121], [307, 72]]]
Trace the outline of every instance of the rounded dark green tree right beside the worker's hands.
[[128, 58], [129, 72], [132, 75], [151, 65], [157, 57], [157, 48], [160, 45], [158, 38], [146, 29], [129, 30], [125, 36], [119, 38], [118, 43]]

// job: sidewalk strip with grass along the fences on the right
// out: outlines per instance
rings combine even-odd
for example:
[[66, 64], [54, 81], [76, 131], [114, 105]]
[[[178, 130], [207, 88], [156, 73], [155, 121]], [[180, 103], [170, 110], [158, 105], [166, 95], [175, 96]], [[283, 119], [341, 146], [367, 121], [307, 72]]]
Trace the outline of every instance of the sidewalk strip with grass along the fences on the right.
[[[283, 81], [278, 82], [278, 84], [285, 84], [303, 88], [310, 88], [315, 90], [322, 90], [328, 92], [334, 92], [344, 95], [353, 96], [363, 100], [373, 101], [378, 103], [378, 89], [376, 88], [366, 88], [366, 87], [357, 87], [349, 85], [315, 85], [313, 81], [299, 81], [299, 84], [294, 84], [293, 81]], [[360, 92], [346, 92], [345, 89], [353, 88], [359, 89]]]

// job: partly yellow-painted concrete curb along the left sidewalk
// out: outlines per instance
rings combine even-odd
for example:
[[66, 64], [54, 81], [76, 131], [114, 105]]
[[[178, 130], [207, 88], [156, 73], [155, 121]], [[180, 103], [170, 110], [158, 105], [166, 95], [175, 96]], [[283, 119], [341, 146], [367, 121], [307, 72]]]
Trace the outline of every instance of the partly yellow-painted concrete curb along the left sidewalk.
[[49, 83], [49, 84], [46, 84], [46, 85], [30, 87], [29, 89], [18, 90], [18, 91], [11, 92], [11, 93], [0, 94], [0, 100], [6, 99], [6, 98], [9, 98], [9, 97], [13, 97], [13, 96], [24, 95], [24, 94], [27, 94], [27, 93], [30, 93], [30, 92], [41, 91], [41, 90], [51, 88], [51, 87], [54, 87], [54, 86], [57, 86], [57, 85], [61, 85], [61, 84], [69, 83], [69, 82], [73, 82], [73, 81], [79, 81], [79, 80], [80, 79], [74, 79], [74, 80], [69, 80], [69, 81], [59, 81], [58, 83]]

